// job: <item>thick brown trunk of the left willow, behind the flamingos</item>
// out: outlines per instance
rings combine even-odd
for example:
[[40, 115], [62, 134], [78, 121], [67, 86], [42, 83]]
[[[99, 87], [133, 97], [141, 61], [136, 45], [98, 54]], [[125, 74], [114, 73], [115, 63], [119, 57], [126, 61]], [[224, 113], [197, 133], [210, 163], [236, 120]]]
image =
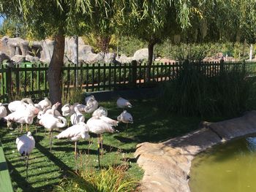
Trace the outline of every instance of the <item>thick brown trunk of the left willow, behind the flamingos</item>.
[[48, 69], [49, 95], [52, 104], [61, 103], [61, 66], [63, 66], [65, 37], [58, 34], [54, 37], [54, 41], [53, 57]]

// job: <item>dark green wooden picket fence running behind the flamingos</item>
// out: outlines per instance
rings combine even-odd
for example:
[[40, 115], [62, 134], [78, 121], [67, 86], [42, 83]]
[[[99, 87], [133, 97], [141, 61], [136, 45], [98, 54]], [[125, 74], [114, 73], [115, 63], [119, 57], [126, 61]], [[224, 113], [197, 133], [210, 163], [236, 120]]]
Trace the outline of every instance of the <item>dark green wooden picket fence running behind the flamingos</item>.
[[[256, 73], [256, 64], [245, 62], [226, 63], [190, 63], [189, 66], [203, 71], [206, 77], [214, 77], [222, 71], [228, 72], [236, 67]], [[83, 91], [107, 91], [127, 88], [143, 88], [156, 86], [158, 82], [173, 80], [184, 69], [184, 63], [155, 63], [147, 75], [148, 66], [137, 64], [81, 64], [62, 67], [62, 92], [64, 95], [72, 88], [81, 88]], [[0, 69], [0, 101], [9, 101], [16, 97], [31, 96], [41, 99], [48, 96], [47, 81], [48, 65], [32, 64], [13, 67], [1, 66]]]

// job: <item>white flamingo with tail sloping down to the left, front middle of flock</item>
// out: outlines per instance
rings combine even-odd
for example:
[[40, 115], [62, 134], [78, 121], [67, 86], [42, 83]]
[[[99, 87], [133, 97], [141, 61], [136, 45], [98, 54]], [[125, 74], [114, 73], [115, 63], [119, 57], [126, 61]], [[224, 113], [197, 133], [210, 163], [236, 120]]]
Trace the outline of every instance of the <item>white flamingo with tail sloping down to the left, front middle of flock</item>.
[[67, 139], [71, 139], [72, 142], [75, 142], [75, 160], [77, 160], [78, 158], [77, 142], [80, 138], [82, 139], [90, 138], [89, 126], [87, 126], [86, 123], [79, 122], [78, 124], [65, 129], [60, 134], [58, 134], [55, 138], [57, 139], [67, 138]]

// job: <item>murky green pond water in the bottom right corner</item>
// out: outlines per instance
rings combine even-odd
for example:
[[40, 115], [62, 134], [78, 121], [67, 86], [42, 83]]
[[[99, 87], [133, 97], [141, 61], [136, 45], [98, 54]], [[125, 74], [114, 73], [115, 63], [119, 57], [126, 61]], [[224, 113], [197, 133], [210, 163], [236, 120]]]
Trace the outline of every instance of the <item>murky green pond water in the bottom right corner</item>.
[[192, 192], [256, 192], [256, 137], [199, 154], [192, 161], [189, 175]]

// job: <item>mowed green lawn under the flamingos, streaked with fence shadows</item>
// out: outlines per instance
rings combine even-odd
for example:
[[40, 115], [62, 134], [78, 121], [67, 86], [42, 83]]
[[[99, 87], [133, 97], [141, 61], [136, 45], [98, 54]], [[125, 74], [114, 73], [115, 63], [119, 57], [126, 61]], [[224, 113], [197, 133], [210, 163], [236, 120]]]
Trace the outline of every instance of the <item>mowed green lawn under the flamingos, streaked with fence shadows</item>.
[[[136, 145], [140, 142], [161, 142], [166, 139], [186, 134], [198, 128], [201, 118], [186, 118], [177, 115], [166, 114], [159, 109], [157, 100], [132, 100], [132, 109], [129, 109], [133, 116], [134, 123], [128, 125], [127, 136], [126, 125], [119, 123], [114, 134], [104, 134], [103, 149], [104, 154], [100, 158], [100, 164], [104, 167], [116, 166], [126, 161], [129, 164], [127, 173], [135, 180], [143, 177], [143, 170], [136, 164], [133, 153]], [[116, 107], [116, 101], [99, 102], [99, 106], [108, 110], [108, 117], [116, 119], [122, 112]], [[89, 115], [86, 115], [86, 120]], [[74, 142], [67, 139], [53, 139], [53, 148], [49, 149], [48, 132], [43, 127], [29, 126], [30, 131], [36, 140], [36, 147], [30, 155], [29, 179], [26, 180], [25, 162], [20, 158], [20, 154], [15, 145], [15, 138], [19, 131], [7, 130], [1, 127], [0, 136], [4, 147], [5, 157], [10, 169], [12, 185], [15, 191], [53, 191], [56, 185], [64, 177], [70, 177], [75, 172], [78, 164], [80, 169], [97, 170], [97, 136], [91, 135], [91, 145], [89, 141], [78, 142], [78, 153], [80, 158], [75, 162]], [[55, 131], [53, 135], [58, 134]]]

